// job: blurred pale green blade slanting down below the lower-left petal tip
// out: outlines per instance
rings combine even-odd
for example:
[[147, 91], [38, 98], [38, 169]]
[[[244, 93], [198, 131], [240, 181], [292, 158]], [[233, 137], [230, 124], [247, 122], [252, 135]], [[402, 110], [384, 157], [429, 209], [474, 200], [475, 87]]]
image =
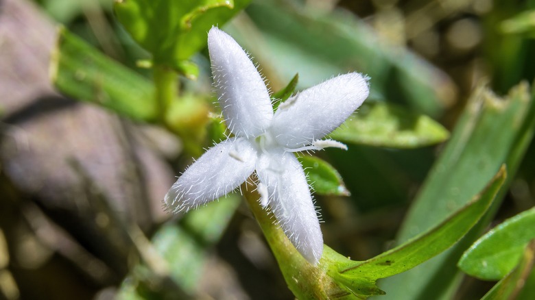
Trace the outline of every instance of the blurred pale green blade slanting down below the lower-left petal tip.
[[174, 223], [160, 227], [151, 240], [154, 253], [144, 264], [134, 266], [118, 299], [193, 299], [209, 259], [206, 249], [221, 238], [240, 201], [240, 197], [229, 195], [187, 214], [180, 227]]

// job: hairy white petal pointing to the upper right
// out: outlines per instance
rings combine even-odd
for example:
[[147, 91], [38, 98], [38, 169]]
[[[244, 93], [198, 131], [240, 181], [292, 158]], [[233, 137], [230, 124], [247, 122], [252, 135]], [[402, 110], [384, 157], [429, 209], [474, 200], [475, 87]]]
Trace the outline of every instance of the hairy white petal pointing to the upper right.
[[308, 88], [278, 107], [272, 132], [285, 147], [310, 145], [332, 132], [368, 97], [366, 77], [348, 73]]

